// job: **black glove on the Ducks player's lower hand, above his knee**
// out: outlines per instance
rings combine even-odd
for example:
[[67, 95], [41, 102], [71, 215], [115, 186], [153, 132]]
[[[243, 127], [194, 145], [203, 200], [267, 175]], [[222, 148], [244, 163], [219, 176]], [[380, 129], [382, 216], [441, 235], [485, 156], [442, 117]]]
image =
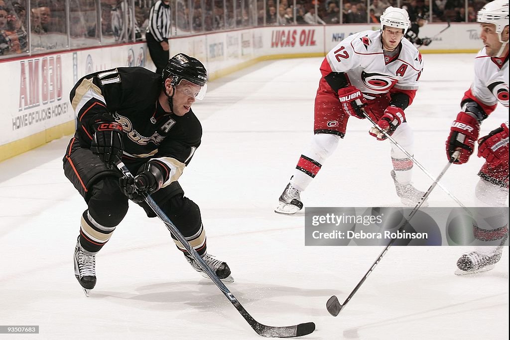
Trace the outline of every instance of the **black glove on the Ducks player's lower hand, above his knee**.
[[156, 192], [163, 185], [163, 174], [160, 168], [152, 163], [146, 163], [135, 177], [120, 177], [120, 189], [135, 203], [145, 200], [144, 194]]

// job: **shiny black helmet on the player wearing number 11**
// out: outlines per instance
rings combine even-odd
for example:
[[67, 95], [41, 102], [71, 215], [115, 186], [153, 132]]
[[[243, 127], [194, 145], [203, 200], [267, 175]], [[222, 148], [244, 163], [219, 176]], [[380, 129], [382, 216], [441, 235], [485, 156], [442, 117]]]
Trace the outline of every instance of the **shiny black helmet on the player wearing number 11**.
[[164, 82], [169, 77], [172, 77], [174, 86], [183, 79], [198, 86], [205, 86], [209, 80], [205, 66], [198, 59], [184, 53], [176, 54], [168, 60], [161, 74], [161, 80]]

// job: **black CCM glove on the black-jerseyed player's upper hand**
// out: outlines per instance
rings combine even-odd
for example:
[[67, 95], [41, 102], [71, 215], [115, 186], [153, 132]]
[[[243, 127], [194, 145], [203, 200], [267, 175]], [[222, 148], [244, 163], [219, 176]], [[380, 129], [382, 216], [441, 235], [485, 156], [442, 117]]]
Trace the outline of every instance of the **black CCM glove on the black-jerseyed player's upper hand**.
[[100, 121], [94, 123], [93, 128], [95, 133], [90, 150], [111, 168], [117, 159], [122, 158], [122, 125], [117, 122]]

